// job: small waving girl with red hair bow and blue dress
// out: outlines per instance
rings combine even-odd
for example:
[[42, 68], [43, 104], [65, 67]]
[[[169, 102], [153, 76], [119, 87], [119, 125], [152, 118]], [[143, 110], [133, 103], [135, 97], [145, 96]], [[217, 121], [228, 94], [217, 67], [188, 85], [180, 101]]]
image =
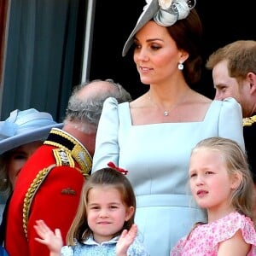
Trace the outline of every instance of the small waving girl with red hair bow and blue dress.
[[79, 209], [63, 247], [61, 230], [55, 233], [38, 220], [37, 241], [57, 255], [145, 255], [134, 224], [136, 198], [131, 183], [118, 168], [103, 168], [84, 183]]

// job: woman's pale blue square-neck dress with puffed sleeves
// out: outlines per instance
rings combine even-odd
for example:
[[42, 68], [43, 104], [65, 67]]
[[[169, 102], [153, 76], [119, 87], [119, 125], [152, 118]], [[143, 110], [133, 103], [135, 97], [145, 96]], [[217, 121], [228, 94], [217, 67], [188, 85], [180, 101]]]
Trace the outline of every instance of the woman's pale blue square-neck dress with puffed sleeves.
[[132, 125], [129, 103], [104, 102], [93, 170], [109, 161], [125, 170], [137, 196], [135, 222], [151, 256], [169, 256], [203, 212], [189, 191], [191, 148], [207, 137], [227, 137], [244, 149], [241, 106], [212, 101], [201, 122]]

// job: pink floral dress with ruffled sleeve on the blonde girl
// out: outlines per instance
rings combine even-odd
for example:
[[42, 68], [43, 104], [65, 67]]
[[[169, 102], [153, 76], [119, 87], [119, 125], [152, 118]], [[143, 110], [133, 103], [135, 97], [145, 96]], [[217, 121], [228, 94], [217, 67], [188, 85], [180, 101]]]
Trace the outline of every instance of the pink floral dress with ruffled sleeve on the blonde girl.
[[256, 255], [256, 231], [251, 218], [232, 212], [210, 224], [198, 225], [189, 236], [177, 241], [171, 256], [217, 256], [218, 244], [241, 230], [244, 241], [252, 245], [247, 256]]

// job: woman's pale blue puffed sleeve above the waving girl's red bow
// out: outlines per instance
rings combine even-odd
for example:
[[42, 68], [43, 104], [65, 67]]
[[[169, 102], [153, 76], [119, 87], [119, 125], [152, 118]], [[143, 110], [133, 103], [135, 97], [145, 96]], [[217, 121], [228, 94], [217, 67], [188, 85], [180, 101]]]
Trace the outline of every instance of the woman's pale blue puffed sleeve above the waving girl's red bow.
[[112, 161], [119, 162], [119, 110], [115, 98], [109, 97], [103, 104], [102, 115], [96, 133], [96, 150], [93, 156], [92, 172], [107, 167]]

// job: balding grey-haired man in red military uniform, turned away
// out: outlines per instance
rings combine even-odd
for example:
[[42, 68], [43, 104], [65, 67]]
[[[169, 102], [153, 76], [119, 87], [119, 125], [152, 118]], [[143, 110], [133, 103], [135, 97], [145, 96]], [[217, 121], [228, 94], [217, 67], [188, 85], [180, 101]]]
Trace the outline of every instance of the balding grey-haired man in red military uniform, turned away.
[[22, 168], [9, 203], [5, 247], [10, 256], [49, 256], [48, 248], [35, 241], [38, 219], [52, 230], [61, 229], [66, 243], [84, 177], [90, 174], [102, 105], [109, 96], [131, 101], [124, 88], [109, 80], [75, 88], [63, 128], [53, 128]]

